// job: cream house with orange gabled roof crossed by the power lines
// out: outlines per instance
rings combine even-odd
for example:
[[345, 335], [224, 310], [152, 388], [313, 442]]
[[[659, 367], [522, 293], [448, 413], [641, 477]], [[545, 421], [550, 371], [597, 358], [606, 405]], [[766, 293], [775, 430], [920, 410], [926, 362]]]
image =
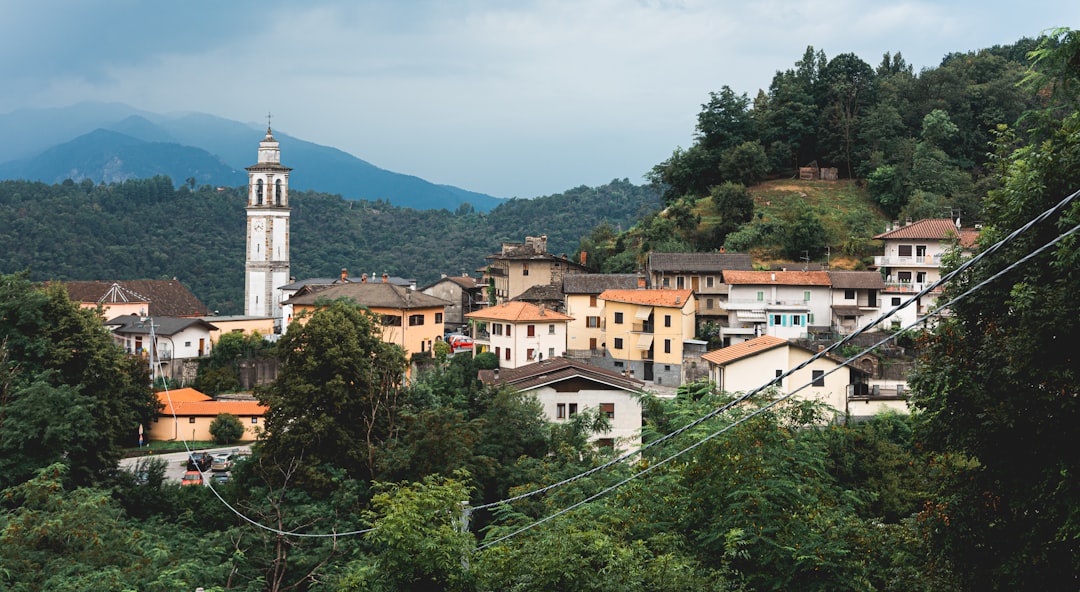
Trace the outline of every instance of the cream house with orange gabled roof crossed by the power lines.
[[[734, 394], [769, 385], [815, 353], [787, 339], [762, 335], [713, 350], [702, 355], [702, 359], [708, 362], [708, 377], [716, 388]], [[819, 358], [807, 367], [781, 379], [775, 387], [785, 394], [795, 392], [794, 396], [798, 399], [825, 403], [839, 417], [846, 417], [849, 386], [865, 382], [865, 377], [862, 371], [850, 366], [840, 367], [842, 361], [833, 356]]]

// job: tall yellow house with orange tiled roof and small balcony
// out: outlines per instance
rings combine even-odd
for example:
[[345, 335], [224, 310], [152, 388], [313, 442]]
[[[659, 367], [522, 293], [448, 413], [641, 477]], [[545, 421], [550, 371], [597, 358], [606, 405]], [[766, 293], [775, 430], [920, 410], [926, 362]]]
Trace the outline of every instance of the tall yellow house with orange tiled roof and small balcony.
[[[604, 349], [612, 369], [658, 385], [683, 384], [684, 341], [694, 336], [690, 290], [606, 290]], [[595, 360], [594, 360], [595, 362]]]

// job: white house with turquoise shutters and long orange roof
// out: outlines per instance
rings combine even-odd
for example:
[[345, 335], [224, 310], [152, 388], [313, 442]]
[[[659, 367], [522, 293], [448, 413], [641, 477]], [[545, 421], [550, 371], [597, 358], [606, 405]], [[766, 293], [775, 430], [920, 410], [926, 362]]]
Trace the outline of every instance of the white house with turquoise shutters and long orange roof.
[[810, 327], [828, 327], [832, 293], [826, 271], [727, 271], [729, 285], [725, 342], [735, 345], [760, 335], [782, 339], [805, 336]]

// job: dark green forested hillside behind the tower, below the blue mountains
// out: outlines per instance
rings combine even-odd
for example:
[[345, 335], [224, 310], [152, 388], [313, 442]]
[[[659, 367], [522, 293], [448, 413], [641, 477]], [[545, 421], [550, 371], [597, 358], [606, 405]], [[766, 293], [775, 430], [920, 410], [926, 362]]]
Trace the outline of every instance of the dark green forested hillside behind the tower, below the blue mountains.
[[[212, 310], [241, 311], [244, 190], [173, 189], [167, 177], [111, 185], [0, 181], [0, 272], [35, 280], [177, 278]], [[294, 191], [292, 272], [335, 277], [341, 268], [390, 273], [420, 284], [485, 264], [503, 241], [548, 234], [553, 253], [572, 253], [597, 224], [629, 227], [659, 206], [657, 193], [626, 180], [511, 200], [484, 214], [462, 205], [411, 210], [376, 201]]]

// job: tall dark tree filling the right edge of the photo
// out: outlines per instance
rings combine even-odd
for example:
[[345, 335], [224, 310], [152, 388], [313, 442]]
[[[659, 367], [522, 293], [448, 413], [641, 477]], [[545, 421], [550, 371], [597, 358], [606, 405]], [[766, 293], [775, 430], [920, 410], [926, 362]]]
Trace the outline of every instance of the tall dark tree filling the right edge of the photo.
[[[1072, 33], [1075, 38], [1075, 31]], [[1080, 80], [1080, 43], [1044, 40], [1040, 76]], [[1042, 90], [1042, 86], [1037, 91]], [[1039, 140], [1008, 161], [987, 198], [987, 247], [1080, 189], [1080, 112], [1038, 119]], [[946, 286], [962, 294], [1080, 223], [1080, 202], [1037, 224]], [[924, 341], [912, 379], [929, 448], [960, 461], [924, 519], [937, 555], [969, 590], [1080, 587], [1080, 250], [1058, 243], [950, 306]], [[955, 264], [954, 264], [955, 265]]]

